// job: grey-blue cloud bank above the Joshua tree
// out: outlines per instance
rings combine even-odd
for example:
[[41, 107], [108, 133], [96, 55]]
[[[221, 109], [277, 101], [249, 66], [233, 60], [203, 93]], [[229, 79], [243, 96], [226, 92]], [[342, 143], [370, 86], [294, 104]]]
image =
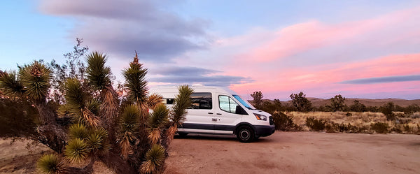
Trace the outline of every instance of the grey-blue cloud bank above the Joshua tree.
[[48, 15], [74, 17], [71, 37], [84, 38], [96, 50], [125, 55], [137, 50], [146, 61], [167, 62], [190, 50], [207, 48], [209, 22], [183, 19], [162, 4], [172, 1], [42, 0]]

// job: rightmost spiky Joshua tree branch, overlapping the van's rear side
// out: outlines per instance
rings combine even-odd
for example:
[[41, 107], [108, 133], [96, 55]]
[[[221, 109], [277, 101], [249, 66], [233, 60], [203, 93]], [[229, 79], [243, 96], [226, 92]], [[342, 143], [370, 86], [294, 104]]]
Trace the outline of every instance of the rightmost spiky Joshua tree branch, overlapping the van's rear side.
[[179, 88], [179, 94], [176, 95], [174, 101], [175, 105], [172, 107], [172, 112], [169, 115], [171, 124], [167, 130], [167, 143], [174, 138], [174, 134], [178, 126], [186, 119], [186, 109], [191, 106], [190, 96], [194, 90], [188, 85], [181, 85]]

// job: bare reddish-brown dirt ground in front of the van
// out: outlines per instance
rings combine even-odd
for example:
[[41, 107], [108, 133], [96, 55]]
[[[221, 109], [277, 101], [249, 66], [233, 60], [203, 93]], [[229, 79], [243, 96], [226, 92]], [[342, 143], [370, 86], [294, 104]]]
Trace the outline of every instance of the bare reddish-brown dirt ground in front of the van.
[[276, 132], [175, 138], [168, 173], [420, 173], [420, 136]]

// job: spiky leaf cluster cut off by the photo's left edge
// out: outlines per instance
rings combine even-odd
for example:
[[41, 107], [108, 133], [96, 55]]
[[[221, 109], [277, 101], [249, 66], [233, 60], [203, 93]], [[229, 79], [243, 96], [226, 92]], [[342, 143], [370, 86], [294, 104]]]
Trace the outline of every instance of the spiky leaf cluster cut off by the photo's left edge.
[[25, 94], [25, 89], [18, 76], [16, 76], [16, 71], [0, 73], [0, 90], [3, 94], [12, 98]]

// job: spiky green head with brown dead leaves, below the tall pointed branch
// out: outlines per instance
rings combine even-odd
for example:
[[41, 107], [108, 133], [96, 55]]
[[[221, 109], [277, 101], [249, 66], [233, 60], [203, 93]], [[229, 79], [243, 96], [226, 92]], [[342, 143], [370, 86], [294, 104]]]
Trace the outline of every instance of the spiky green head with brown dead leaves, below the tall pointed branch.
[[129, 105], [124, 108], [120, 118], [120, 152], [123, 159], [132, 154], [131, 142], [135, 139], [134, 133], [139, 128], [140, 113], [136, 106]]

